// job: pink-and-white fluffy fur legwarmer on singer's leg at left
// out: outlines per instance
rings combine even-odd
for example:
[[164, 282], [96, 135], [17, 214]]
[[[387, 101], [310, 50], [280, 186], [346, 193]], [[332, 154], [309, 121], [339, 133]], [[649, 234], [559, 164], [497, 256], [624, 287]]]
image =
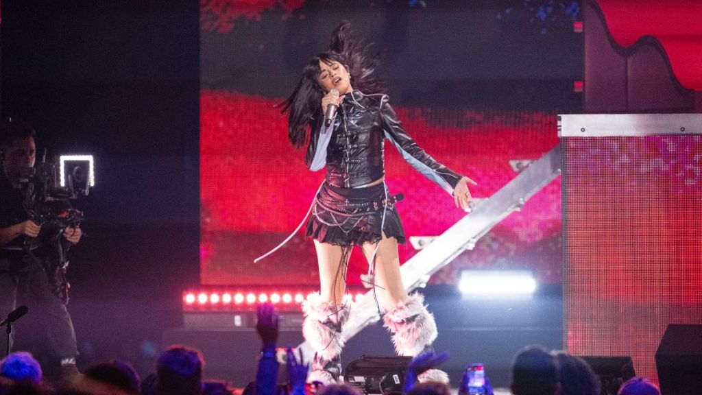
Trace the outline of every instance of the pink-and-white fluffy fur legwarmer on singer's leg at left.
[[319, 293], [314, 292], [303, 302], [303, 313], [303, 336], [312, 345], [312, 349], [327, 361], [341, 354], [344, 341], [337, 328], [340, 329], [346, 322], [348, 309], [322, 302]]

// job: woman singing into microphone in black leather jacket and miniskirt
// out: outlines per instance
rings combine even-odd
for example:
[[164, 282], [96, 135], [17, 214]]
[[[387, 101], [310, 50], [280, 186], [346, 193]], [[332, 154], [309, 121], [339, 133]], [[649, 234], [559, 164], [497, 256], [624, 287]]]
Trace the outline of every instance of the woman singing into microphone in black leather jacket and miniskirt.
[[[422, 295], [408, 295], [400, 277], [397, 243], [404, 243], [405, 235], [395, 202], [402, 197], [391, 196], [384, 183], [385, 138], [412, 167], [453, 195], [456, 207], [468, 208], [468, 183], [475, 184], [436, 162], [404, 131], [388, 96], [378, 93], [380, 85], [373, 75], [376, 58], [347, 37], [349, 25], [342, 22], [334, 30], [329, 51], [307, 63], [295, 91], [281, 104], [282, 112], [289, 112], [291, 143], [300, 147], [310, 134], [307, 167], [312, 171], [326, 167], [326, 179], [307, 221], [321, 288], [303, 304], [303, 335], [317, 353], [310, 382], [336, 382], [340, 377], [340, 333], [349, 313], [341, 301], [355, 245], [369, 261], [374, 285], [383, 290], [384, 323], [397, 353], [416, 356], [430, 349], [437, 337]], [[325, 116], [330, 106], [336, 112]], [[430, 370], [421, 379], [448, 382], [441, 370]]]

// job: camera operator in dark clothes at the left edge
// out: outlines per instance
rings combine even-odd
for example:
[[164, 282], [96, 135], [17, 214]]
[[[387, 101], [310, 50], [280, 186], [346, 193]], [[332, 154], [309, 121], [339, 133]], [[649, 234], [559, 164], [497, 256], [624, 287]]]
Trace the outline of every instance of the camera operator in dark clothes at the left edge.
[[[0, 132], [0, 318], [15, 309], [18, 302], [29, 306], [30, 314], [41, 322], [52, 357], [61, 361], [62, 375], [70, 376], [78, 370], [76, 337], [65, 306], [67, 298], [55, 291], [54, 274], [49, 273], [41, 254], [43, 229], [29, 219], [23, 188], [34, 167], [34, 136], [32, 127], [19, 121], [4, 122]], [[71, 245], [81, 239], [79, 227], [62, 231]], [[21, 325], [21, 320], [18, 323]], [[0, 336], [2, 353], [5, 342], [6, 336]]]

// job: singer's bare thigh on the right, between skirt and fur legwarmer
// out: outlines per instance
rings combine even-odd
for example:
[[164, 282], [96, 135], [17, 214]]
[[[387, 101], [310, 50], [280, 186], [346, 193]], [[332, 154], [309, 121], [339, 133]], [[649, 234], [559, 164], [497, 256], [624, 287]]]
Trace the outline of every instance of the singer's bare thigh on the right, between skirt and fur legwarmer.
[[[376, 250], [376, 245], [366, 243], [362, 246], [362, 250], [369, 264], [373, 264], [373, 252]], [[376, 252], [375, 276], [376, 285], [383, 289], [388, 307], [395, 307], [407, 299], [407, 292], [404, 290], [402, 276], [399, 272], [397, 239], [388, 238], [385, 232], [383, 232], [383, 239], [380, 240], [378, 252]]]

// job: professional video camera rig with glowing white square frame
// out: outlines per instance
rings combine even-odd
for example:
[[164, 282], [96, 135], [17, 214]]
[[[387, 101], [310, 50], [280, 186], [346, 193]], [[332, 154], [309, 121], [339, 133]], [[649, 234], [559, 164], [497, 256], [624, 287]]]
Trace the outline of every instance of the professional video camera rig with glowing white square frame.
[[29, 219], [41, 225], [38, 238], [25, 239], [25, 249], [37, 250], [44, 257], [53, 290], [65, 303], [70, 243], [63, 233], [66, 228], [80, 226], [85, 218], [83, 212], [72, 207], [71, 200], [88, 195], [94, 185], [91, 155], [61, 155], [55, 162], [47, 162], [46, 151], [24, 183], [25, 210]]

